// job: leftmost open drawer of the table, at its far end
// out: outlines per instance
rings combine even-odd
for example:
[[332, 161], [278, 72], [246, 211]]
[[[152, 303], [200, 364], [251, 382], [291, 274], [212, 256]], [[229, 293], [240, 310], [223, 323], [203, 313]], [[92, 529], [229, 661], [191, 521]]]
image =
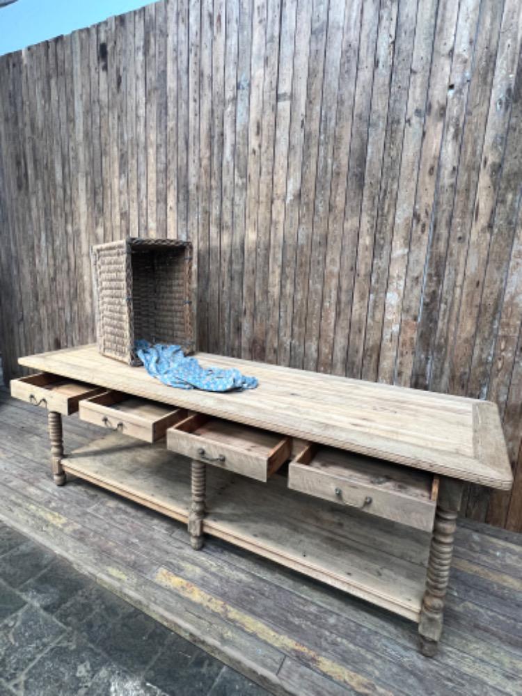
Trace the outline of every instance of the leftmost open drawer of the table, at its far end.
[[60, 377], [58, 374], [39, 372], [30, 377], [11, 380], [11, 396], [15, 399], [42, 406], [48, 411], [57, 411], [63, 416], [76, 413], [81, 399], [99, 394], [102, 389], [92, 384]]

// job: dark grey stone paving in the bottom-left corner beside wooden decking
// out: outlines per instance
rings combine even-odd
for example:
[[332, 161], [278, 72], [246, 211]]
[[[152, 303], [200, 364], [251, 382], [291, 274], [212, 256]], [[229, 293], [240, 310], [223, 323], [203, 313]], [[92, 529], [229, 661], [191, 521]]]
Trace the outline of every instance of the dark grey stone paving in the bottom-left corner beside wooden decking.
[[267, 691], [0, 523], [0, 696]]

